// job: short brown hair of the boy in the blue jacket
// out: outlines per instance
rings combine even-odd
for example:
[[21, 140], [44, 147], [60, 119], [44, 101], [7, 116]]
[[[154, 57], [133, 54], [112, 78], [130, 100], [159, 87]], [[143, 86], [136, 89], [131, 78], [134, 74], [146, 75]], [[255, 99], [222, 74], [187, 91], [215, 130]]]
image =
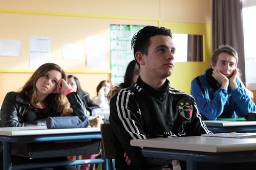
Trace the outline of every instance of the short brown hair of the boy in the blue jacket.
[[211, 62], [213, 65], [217, 64], [218, 57], [221, 53], [227, 53], [233, 56], [237, 60], [236, 64], [238, 64], [238, 52], [229, 45], [221, 45], [214, 53], [212, 53]]

